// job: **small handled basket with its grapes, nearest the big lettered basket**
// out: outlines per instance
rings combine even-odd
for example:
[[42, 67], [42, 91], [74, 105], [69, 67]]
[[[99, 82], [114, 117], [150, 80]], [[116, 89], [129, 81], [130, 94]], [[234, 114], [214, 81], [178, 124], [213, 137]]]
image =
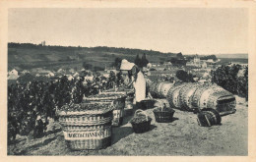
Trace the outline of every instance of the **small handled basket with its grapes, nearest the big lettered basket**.
[[150, 131], [152, 118], [145, 111], [138, 109], [134, 113], [134, 117], [130, 123], [135, 134], [142, 134]]

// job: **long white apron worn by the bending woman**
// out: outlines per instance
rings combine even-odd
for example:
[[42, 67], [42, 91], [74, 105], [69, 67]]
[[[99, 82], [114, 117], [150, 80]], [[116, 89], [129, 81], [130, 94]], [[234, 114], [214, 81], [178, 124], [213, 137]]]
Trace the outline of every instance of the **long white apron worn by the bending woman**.
[[133, 85], [135, 88], [135, 100], [140, 102], [146, 98], [146, 80], [142, 72], [137, 75], [137, 81], [134, 81]]

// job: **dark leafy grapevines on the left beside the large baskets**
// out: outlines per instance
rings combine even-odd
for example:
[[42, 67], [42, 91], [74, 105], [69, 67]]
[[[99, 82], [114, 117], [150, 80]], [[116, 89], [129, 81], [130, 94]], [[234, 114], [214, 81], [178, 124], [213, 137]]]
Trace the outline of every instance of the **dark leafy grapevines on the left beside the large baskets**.
[[[96, 75], [94, 81], [74, 79], [68, 81], [63, 76], [58, 81], [29, 81], [8, 86], [8, 137], [15, 139], [17, 134], [36, 137], [35, 119], [42, 118], [46, 128], [48, 118], [57, 120], [55, 114], [65, 104], [80, 103], [84, 96], [120, 85], [114, 74], [109, 79]], [[41, 130], [41, 129], [39, 129]], [[45, 130], [45, 129], [44, 129]]]

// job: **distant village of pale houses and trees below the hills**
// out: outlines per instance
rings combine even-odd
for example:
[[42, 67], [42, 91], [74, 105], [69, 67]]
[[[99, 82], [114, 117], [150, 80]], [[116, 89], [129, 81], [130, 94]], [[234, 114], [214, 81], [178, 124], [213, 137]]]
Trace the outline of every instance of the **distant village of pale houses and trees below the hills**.
[[[185, 57], [184, 57], [185, 58]], [[186, 58], [185, 58], [186, 59]], [[186, 62], [183, 66], [175, 66], [171, 64], [170, 61], [163, 63], [149, 63], [147, 67], [144, 67], [142, 71], [146, 76], [152, 81], [176, 81], [176, 72], [183, 70], [187, 74], [193, 76], [194, 81], [198, 82], [211, 82], [211, 71], [215, 71], [222, 64], [219, 64], [221, 60], [202, 60], [198, 55], [195, 55], [193, 59], [190, 59], [189, 62]], [[228, 66], [232, 66], [237, 63], [229, 63]], [[243, 64], [242, 66], [247, 66]], [[110, 73], [113, 72], [117, 74], [119, 71], [115, 67], [105, 67], [103, 71], [97, 71], [101, 76], [109, 78]], [[46, 78], [50, 81], [58, 81], [62, 76], [66, 76], [69, 81], [72, 81], [74, 78], [81, 78], [82, 76], [85, 80], [93, 81], [95, 73], [91, 70], [82, 68], [80, 70], [70, 69], [58, 69], [57, 71], [45, 70], [43, 68], [34, 68], [32, 70], [20, 70], [19, 68], [14, 68], [8, 72], [8, 82], [15, 83], [20, 77], [25, 75], [32, 75], [35, 78]]]

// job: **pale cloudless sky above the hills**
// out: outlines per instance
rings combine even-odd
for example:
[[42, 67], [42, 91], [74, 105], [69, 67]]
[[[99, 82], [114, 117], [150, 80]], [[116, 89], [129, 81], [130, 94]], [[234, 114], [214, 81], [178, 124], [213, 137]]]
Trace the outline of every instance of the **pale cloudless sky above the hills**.
[[242, 8], [9, 9], [8, 41], [182, 52], [247, 53]]

